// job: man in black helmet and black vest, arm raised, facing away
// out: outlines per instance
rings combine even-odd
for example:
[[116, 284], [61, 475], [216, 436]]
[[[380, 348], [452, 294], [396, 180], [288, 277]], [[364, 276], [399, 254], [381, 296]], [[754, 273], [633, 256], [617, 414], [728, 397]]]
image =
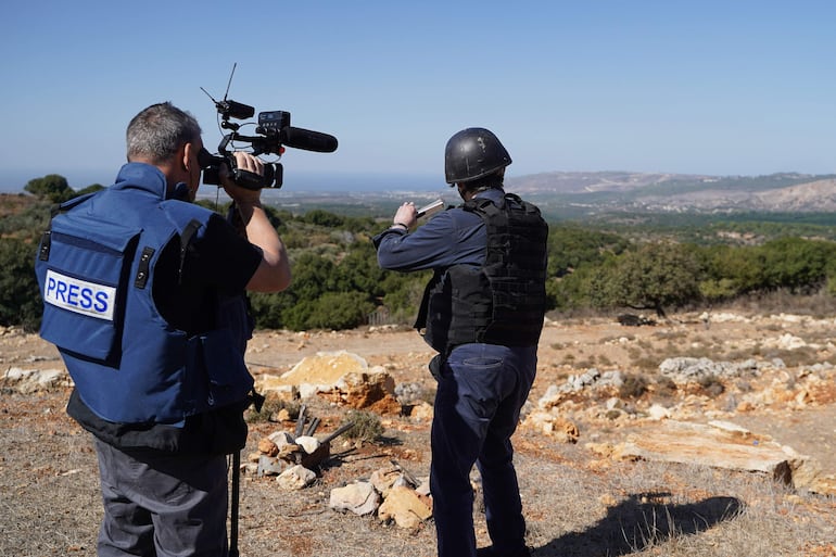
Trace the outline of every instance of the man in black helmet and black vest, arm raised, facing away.
[[[413, 232], [417, 211], [404, 203], [373, 239], [382, 268], [434, 271], [415, 327], [439, 352], [430, 489], [440, 557], [529, 555], [510, 436], [536, 371], [548, 227], [537, 207], [505, 192], [509, 164], [490, 130], [455, 134], [445, 177], [465, 203]], [[479, 550], [473, 464], [493, 543]]]

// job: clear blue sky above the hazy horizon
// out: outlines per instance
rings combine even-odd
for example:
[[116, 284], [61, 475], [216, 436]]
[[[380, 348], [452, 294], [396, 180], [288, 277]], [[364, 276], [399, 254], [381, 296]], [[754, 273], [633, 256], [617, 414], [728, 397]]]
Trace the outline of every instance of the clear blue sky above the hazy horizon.
[[[836, 173], [831, 1], [10, 2], [0, 190], [110, 183], [124, 131], [170, 100], [217, 145], [214, 105], [337, 136], [288, 149], [284, 188], [443, 185], [444, 144], [495, 131], [508, 175]], [[294, 186], [296, 185], [296, 186]]]

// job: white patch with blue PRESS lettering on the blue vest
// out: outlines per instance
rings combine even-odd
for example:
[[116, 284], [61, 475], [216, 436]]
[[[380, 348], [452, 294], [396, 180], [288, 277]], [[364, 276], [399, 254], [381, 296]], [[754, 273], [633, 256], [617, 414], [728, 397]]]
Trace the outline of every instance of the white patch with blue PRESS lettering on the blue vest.
[[48, 304], [106, 321], [113, 320], [116, 289], [47, 270], [43, 300]]

